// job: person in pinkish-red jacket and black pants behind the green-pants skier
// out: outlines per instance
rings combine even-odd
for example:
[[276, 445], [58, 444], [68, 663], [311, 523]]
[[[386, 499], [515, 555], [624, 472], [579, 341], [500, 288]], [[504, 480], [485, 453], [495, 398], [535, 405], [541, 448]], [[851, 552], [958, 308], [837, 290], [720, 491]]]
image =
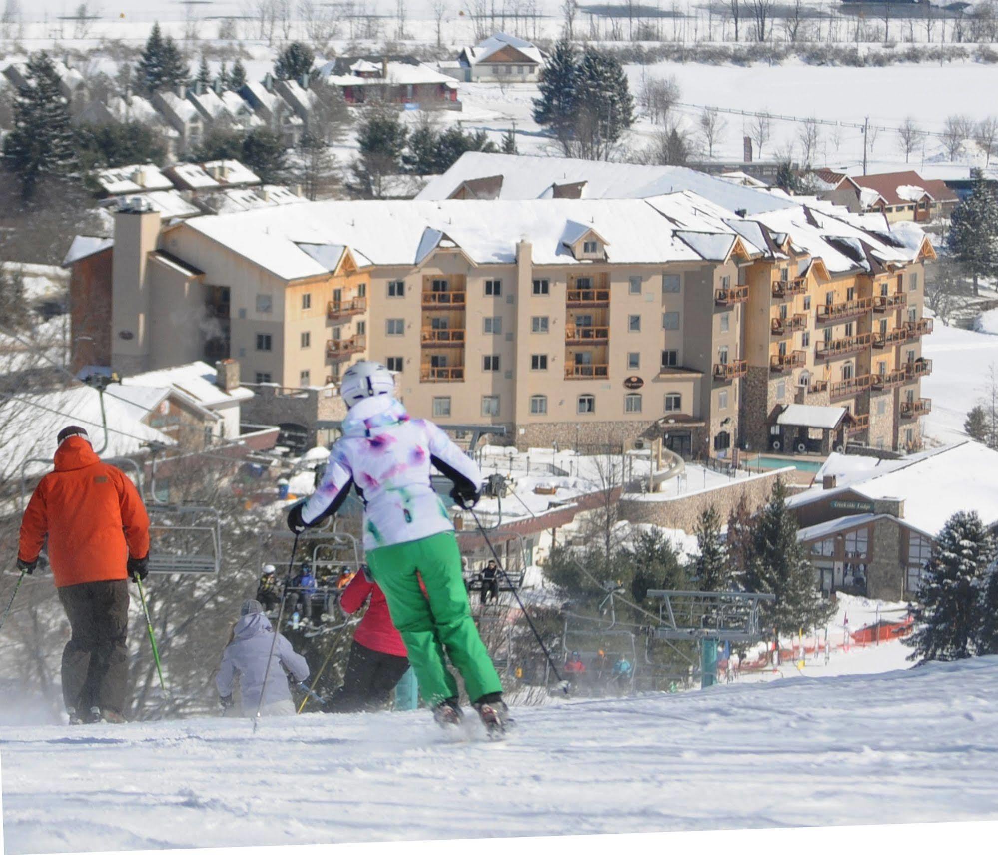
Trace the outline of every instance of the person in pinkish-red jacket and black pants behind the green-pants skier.
[[325, 703], [326, 712], [377, 709], [388, 702], [391, 690], [409, 667], [405, 642], [391, 622], [388, 603], [377, 583], [361, 565], [343, 590], [339, 605], [353, 614], [370, 599], [367, 612], [353, 633], [343, 684]]

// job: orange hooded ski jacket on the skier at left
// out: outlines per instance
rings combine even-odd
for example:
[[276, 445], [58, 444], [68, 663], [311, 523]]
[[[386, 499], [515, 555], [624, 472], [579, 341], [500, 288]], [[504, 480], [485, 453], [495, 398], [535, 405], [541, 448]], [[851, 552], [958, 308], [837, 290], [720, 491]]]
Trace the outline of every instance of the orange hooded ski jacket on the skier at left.
[[35, 487], [18, 556], [35, 560], [46, 534], [56, 587], [128, 578], [129, 555], [149, 554], [149, 515], [139, 491], [82, 436], [59, 446], [55, 471]]

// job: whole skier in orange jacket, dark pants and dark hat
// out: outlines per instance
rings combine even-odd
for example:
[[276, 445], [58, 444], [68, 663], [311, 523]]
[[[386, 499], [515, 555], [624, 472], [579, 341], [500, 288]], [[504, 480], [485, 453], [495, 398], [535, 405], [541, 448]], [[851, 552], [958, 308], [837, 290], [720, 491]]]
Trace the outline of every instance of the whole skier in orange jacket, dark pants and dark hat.
[[129, 577], [149, 572], [149, 516], [135, 484], [102, 463], [84, 428], [60, 431], [55, 471], [41, 479], [21, 520], [17, 566], [49, 562], [73, 635], [62, 658], [71, 724], [122, 722], [128, 681]]

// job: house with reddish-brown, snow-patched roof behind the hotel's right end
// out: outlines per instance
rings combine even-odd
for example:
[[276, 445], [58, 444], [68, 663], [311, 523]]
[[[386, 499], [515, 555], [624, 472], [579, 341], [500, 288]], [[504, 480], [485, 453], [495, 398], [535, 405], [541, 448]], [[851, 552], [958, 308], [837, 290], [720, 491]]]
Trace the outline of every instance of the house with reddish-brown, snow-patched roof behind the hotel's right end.
[[948, 217], [959, 201], [945, 182], [923, 179], [914, 170], [849, 176], [823, 169], [814, 175], [820, 182], [818, 199], [841, 205], [853, 214], [883, 214], [889, 223], [927, 223]]

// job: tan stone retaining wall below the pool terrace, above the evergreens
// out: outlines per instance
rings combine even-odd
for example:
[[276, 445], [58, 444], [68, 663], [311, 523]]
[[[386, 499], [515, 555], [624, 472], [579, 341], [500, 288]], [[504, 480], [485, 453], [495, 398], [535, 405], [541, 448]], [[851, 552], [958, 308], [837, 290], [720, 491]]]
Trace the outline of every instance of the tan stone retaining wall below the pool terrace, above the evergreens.
[[620, 500], [620, 515], [629, 522], [650, 522], [693, 533], [701, 513], [712, 504], [721, 514], [722, 521], [727, 522], [728, 514], [738, 506], [742, 496], [745, 495], [749, 502], [749, 510], [754, 513], [765, 504], [779, 474], [775, 471], [752, 475], [749, 478], [732, 481], [726, 486], [700, 490], [675, 498], [639, 499], [629, 497], [625, 493]]

